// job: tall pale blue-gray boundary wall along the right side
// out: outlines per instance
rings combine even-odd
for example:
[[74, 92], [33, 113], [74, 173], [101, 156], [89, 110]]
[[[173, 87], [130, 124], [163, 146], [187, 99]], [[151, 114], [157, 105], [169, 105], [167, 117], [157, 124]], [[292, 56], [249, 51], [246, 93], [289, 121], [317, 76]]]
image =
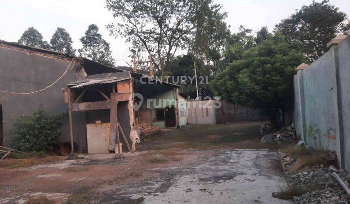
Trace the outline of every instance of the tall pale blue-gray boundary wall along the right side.
[[350, 37], [294, 77], [297, 136], [350, 170]]

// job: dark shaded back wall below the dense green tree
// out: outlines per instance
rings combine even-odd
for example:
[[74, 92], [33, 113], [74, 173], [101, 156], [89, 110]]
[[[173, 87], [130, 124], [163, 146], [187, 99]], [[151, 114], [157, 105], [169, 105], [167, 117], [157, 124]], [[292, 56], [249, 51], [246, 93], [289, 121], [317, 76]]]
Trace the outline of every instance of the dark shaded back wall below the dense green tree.
[[267, 116], [261, 115], [258, 109], [254, 110], [224, 100], [220, 102], [221, 106], [216, 110], [217, 123], [262, 121], [268, 119]]

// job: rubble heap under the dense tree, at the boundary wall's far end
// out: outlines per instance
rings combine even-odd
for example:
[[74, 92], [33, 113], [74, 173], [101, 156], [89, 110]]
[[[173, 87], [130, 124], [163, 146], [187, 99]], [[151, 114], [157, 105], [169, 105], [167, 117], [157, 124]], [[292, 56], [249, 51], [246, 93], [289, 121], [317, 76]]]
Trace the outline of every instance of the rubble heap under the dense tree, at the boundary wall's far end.
[[295, 129], [292, 127], [292, 125], [284, 126], [275, 133], [266, 134], [270, 128], [270, 123], [262, 124], [262, 127], [260, 128], [260, 132], [263, 135], [262, 142], [282, 144], [287, 141], [292, 141], [296, 138]]

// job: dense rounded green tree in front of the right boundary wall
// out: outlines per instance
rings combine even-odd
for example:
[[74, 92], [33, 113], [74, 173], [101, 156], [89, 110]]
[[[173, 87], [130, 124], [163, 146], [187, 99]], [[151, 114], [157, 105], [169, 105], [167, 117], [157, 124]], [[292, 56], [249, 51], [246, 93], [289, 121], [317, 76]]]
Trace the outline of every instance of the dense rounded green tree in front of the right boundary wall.
[[275, 119], [279, 109], [292, 107], [293, 76], [302, 62], [302, 53], [293, 50], [285, 37], [276, 32], [217, 74], [210, 87], [216, 96], [260, 108]]

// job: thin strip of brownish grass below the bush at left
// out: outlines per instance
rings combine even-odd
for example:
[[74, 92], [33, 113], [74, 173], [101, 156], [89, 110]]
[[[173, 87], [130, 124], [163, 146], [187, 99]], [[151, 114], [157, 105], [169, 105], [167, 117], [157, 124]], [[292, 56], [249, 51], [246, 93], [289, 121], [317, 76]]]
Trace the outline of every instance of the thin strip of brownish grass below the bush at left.
[[61, 159], [62, 158], [59, 156], [48, 156], [44, 158], [31, 157], [26, 159], [5, 159], [0, 161], [0, 168], [10, 168], [10, 169], [26, 168], [26, 167], [31, 167], [38, 164], [58, 161]]

